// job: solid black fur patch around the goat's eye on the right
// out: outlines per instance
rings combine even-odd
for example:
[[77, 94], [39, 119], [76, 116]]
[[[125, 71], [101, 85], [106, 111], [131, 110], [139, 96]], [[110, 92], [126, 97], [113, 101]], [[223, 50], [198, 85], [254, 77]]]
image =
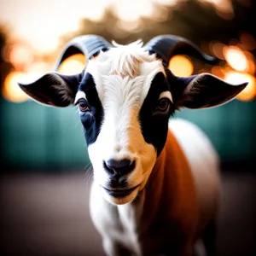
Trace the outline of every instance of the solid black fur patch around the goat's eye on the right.
[[166, 81], [163, 73], [157, 73], [154, 77], [148, 95], [143, 102], [143, 106], [139, 113], [139, 120], [143, 137], [146, 143], [150, 143], [160, 154], [166, 143], [168, 120], [170, 115], [174, 112], [174, 106], [171, 102], [169, 111], [156, 111], [157, 103], [160, 94], [163, 91], [169, 90], [170, 86]]

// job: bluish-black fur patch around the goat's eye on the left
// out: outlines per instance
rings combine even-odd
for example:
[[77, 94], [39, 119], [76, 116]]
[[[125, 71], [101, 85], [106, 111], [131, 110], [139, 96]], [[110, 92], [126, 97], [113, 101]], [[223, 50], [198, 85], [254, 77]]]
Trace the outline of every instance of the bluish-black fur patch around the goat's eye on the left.
[[84, 125], [84, 136], [87, 146], [89, 146], [96, 142], [96, 138], [101, 131], [104, 111], [96, 90], [96, 84], [90, 73], [86, 73], [84, 79], [82, 79], [79, 90], [84, 91], [90, 108], [90, 111], [80, 113], [80, 119]]

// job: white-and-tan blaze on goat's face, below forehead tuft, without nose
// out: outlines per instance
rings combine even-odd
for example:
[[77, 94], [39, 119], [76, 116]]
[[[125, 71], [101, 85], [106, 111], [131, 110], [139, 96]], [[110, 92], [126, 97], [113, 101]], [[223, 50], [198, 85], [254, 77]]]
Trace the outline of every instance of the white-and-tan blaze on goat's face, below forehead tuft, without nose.
[[[99, 59], [101, 60], [100, 57]], [[135, 170], [127, 178], [127, 187], [133, 188], [138, 184], [141, 186], [122, 199], [110, 198], [106, 193], [104, 195], [108, 201], [125, 203], [132, 201], [138, 190], [143, 189], [156, 160], [157, 153], [154, 146], [144, 140], [139, 112], [154, 76], [159, 72], [164, 73], [164, 68], [160, 61], [143, 62], [140, 75], [131, 78], [109, 75], [108, 67], [111, 65], [109, 66], [109, 62], [104, 59], [104, 62], [90, 61], [86, 69], [95, 80], [104, 111], [101, 131], [96, 142], [88, 147], [88, 151], [94, 167], [96, 183], [102, 186], [108, 183], [108, 174], [103, 169], [103, 161], [107, 162], [110, 159], [136, 161]]]

